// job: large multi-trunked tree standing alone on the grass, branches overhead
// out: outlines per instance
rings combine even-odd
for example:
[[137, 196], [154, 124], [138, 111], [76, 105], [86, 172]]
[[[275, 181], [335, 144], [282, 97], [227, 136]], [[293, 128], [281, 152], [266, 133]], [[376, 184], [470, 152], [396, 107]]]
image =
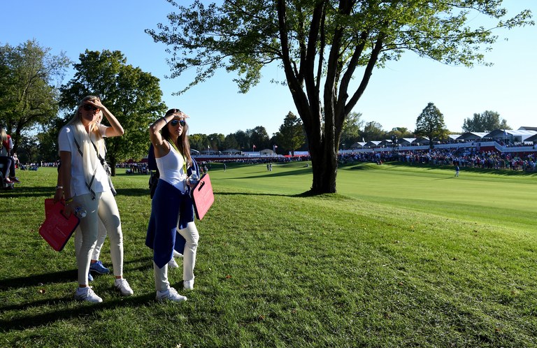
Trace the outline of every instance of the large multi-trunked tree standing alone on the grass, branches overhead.
[[170, 46], [172, 78], [196, 66], [186, 88], [225, 68], [238, 73], [239, 90], [248, 92], [262, 68], [279, 61], [308, 137], [313, 193], [336, 191], [343, 122], [375, 66], [405, 50], [446, 64], [482, 63], [482, 49], [496, 36], [470, 27], [476, 15], [507, 28], [531, 18], [526, 10], [502, 20], [506, 10], [498, 0], [224, 0], [207, 6], [194, 0], [188, 7], [168, 1], [178, 7], [168, 15], [170, 25], [147, 32]]

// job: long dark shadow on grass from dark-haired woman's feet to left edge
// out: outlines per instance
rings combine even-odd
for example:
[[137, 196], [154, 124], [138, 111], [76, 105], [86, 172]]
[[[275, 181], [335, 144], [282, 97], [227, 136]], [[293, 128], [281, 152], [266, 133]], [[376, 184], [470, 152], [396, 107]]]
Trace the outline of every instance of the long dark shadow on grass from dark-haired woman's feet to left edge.
[[[120, 295], [117, 295], [120, 296]], [[48, 300], [38, 300], [32, 303], [24, 303], [18, 306], [10, 306], [10, 310], [24, 310], [29, 307], [39, 307], [43, 305], [58, 305], [59, 303], [73, 301], [73, 297], [53, 298]], [[80, 317], [92, 317], [94, 313], [102, 310], [113, 310], [118, 307], [141, 307], [148, 303], [155, 302], [155, 293], [145, 293], [141, 296], [129, 296], [106, 300], [103, 303], [80, 303], [78, 308], [69, 308], [47, 312], [43, 314], [28, 315], [17, 319], [0, 320], [0, 332], [6, 333], [11, 330], [25, 330], [45, 326], [55, 321], [69, 320]], [[1, 308], [0, 310], [5, 310]]]

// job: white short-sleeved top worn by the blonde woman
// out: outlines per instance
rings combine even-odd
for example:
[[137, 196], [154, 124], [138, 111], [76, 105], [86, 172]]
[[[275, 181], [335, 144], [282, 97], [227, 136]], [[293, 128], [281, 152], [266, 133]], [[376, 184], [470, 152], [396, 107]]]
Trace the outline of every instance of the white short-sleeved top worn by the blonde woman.
[[[101, 136], [106, 136], [106, 126], [100, 124], [99, 131], [101, 132]], [[80, 150], [82, 151], [82, 144], [80, 141], [78, 143], [80, 145]], [[75, 137], [71, 126], [64, 126], [62, 130], [59, 131], [58, 147], [59, 151], [71, 152], [71, 196], [90, 194], [90, 190], [86, 187], [82, 156], [80, 155], [80, 152], [78, 152], [78, 147], [75, 144]], [[97, 166], [92, 189], [95, 193], [110, 191], [108, 175], [106, 174], [106, 171], [104, 171], [99, 160], [97, 160], [97, 164], [99, 164], [99, 166]], [[90, 184], [90, 182], [88, 182], [88, 184]]]

